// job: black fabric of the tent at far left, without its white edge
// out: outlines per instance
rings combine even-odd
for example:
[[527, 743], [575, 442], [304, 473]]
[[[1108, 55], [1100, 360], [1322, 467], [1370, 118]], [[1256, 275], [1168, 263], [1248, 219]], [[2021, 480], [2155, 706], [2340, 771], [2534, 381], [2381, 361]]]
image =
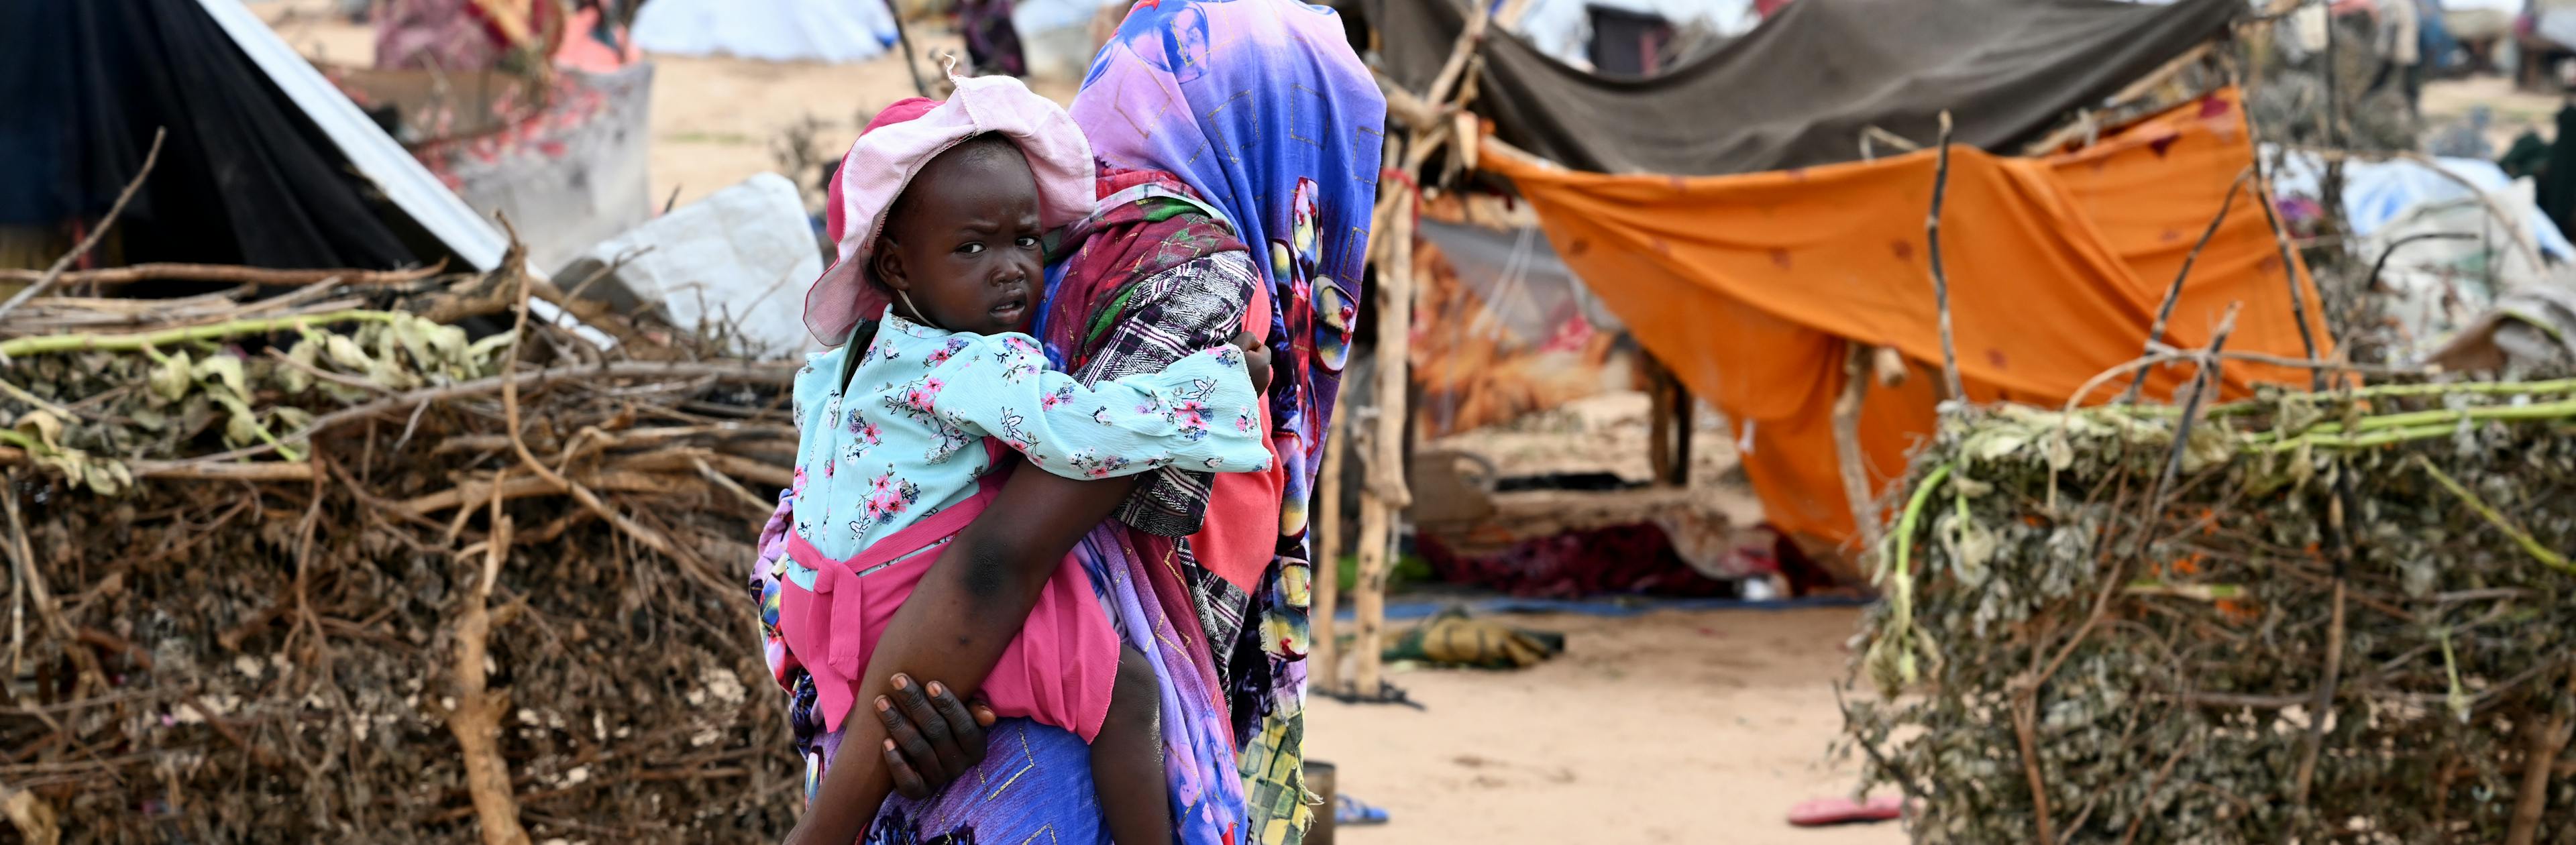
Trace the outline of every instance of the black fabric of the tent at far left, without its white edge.
[[438, 255], [196, 0], [8, 3], [0, 113], [0, 227], [49, 245], [23, 250], [39, 268], [70, 247], [52, 234], [116, 204], [155, 131], [167, 131], [155, 178], [124, 209], [108, 263], [394, 268]]

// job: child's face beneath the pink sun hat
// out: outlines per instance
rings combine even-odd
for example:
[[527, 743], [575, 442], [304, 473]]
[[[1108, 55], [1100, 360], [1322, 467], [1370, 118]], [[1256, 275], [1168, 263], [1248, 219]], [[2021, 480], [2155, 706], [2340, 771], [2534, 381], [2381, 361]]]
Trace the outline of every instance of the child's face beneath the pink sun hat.
[[930, 160], [904, 188], [876, 250], [876, 278], [922, 322], [999, 335], [1038, 307], [1038, 178], [1012, 144], [969, 142]]

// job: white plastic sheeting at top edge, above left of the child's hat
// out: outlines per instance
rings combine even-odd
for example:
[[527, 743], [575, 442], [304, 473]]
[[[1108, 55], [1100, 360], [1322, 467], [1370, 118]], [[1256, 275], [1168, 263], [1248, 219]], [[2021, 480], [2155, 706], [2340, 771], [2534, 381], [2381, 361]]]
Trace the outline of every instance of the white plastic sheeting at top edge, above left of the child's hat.
[[894, 44], [894, 10], [884, 0], [652, 0], [634, 39], [680, 57], [866, 62]]

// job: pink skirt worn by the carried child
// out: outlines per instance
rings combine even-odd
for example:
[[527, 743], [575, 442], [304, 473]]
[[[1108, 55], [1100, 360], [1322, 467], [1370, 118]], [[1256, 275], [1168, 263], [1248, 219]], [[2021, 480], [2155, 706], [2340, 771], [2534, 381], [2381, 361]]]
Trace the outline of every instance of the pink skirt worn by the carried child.
[[[984, 448], [994, 461], [1002, 459], [994, 441], [984, 441]], [[850, 559], [829, 559], [806, 538], [788, 533], [788, 556], [817, 574], [814, 590], [781, 580], [778, 634], [786, 639], [788, 660], [814, 675], [824, 729], [837, 732], [858, 701], [858, 675], [868, 670], [878, 636], [940, 556], [933, 546], [953, 541], [966, 523], [974, 523], [999, 495], [1002, 477], [1007, 474], [987, 474], [966, 502], [912, 523]], [[999, 716], [1036, 719], [1092, 742], [1110, 711], [1115, 678], [1118, 631], [1092, 593], [1092, 577], [1066, 554], [1038, 590], [1038, 605], [1028, 611], [1020, 636], [1012, 636], [1002, 662], [984, 678], [981, 693]]]

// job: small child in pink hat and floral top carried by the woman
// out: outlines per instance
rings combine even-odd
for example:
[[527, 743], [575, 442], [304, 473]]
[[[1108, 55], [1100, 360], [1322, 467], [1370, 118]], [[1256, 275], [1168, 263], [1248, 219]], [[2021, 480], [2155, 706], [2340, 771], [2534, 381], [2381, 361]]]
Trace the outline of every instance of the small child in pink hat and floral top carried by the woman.
[[[1082, 152], [1087, 201], [1090, 152], [1054, 103], [1015, 80], [958, 85], [953, 100], [896, 103], [860, 134], [832, 188], [835, 211], [860, 229], [837, 232], [842, 260], [806, 299], [814, 325], [881, 317], [796, 376], [793, 533], [762, 595], [773, 670], [791, 690], [811, 683], [829, 732], [912, 585], [951, 541], [974, 536], [961, 528], [999, 489], [989, 471], [1005, 446], [1077, 479], [1270, 464], [1239, 348], [1097, 386], [1046, 368], [1023, 335], [1041, 299], [1041, 234], [1072, 196], [1069, 149]], [[1025, 131], [974, 131], [994, 121]], [[894, 304], [876, 314], [811, 319], [884, 294]], [[1090, 739], [1110, 837], [1159, 845], [1172, 840], [1159, 685], [1110, 618], [1084, 569], [1061, 562], [981, 690], [1002, 716]], [[876, 750], [806, 752], [809, 796], [827, 765], [881, 765]]]

